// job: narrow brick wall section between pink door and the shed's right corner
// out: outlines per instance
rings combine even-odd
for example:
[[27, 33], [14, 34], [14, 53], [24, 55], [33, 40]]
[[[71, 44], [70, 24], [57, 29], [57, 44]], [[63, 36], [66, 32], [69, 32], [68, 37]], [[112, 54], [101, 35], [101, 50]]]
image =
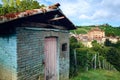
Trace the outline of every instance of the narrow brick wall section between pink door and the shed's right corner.
[[[59, 79], [69, 80], [69, 34], [60, 35]], [[67, 43], [67, 50], [62, 51], [62, 44]]]

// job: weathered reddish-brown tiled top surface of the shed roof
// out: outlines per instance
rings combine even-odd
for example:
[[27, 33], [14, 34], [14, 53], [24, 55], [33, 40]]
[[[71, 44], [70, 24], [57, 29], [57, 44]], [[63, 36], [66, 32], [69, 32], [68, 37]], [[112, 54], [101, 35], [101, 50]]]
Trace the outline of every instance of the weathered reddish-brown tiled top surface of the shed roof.
[[27, 17], [27, 16], [40, 14], [40, 13], [46, 13], [46, 12], [54, 11], [57, 8], [59, 8], [59, 6], [60, 6], [59, 3], [57, 3], [57, 4], [54, 4], [52, 6], [43, 7], [43, 8], [40, 8], [40, 9], [33, 9], [33, 10], [26, 10], [24, 12], [5, 14], [3, 16], [0, 16], [0, 23], [15, 20], [15, 19], [22, 18], [22, 17]]

